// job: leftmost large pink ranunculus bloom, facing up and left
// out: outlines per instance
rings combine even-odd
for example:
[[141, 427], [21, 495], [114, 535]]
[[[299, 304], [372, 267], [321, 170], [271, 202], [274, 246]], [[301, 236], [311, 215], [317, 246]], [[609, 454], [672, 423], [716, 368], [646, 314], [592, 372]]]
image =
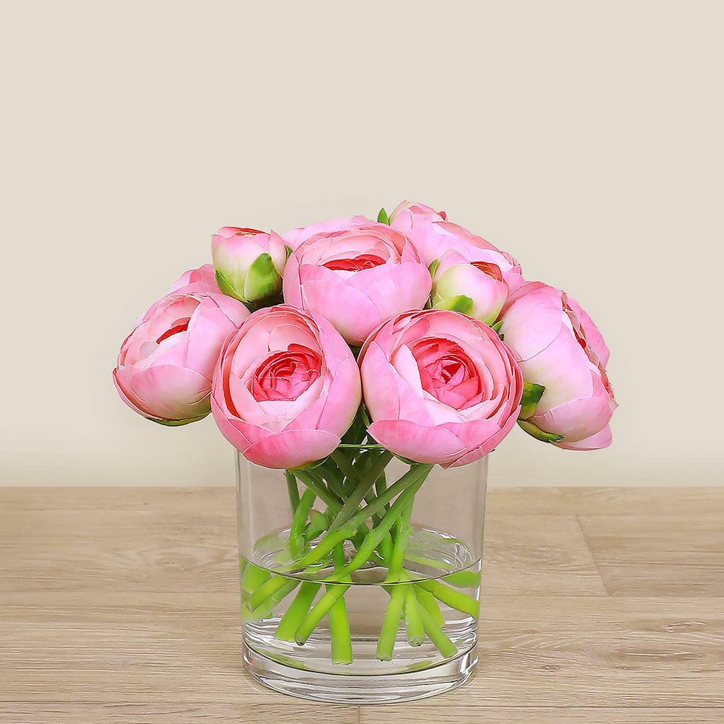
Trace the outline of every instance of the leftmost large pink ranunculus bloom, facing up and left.
[[144, 417], [185, 424], [211, 411], [214, 366], [248, 309], [220, 292], [172, 293], [141, 315], [113, 371], [123, 401]]

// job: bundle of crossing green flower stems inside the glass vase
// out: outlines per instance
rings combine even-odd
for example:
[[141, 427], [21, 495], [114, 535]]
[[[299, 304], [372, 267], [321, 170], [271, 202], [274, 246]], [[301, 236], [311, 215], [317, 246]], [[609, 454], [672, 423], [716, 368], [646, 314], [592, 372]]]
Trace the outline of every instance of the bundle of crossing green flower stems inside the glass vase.
[[[457, 652], [443, 631], [445, 619], [440, 603], [476, 618], [479, 603], [455, 588], [479, 584], [476, 578], [479, 574], [463, 571], [441, 579], [417, 580], [415, 576], [419, 573], [405, 570], [405, 562], [410, 565], [416, 561], [439, 567], [441, 573], [445, 571], [445, 564], [437, 560], [428, 562], [413, 555], [407, 557], [413, 535], [414, 498], [433, 466], [411, 463], [409, 470], [387, 487], [384, 471], [391, 459], [392, 453], [379, 446], [350, 450], [340, 447], [315, 468], [285, 471], [292, 510], [289, 534], [292, 560], [287, 565], [286, 552], [277, 555], [275, 560], [285, 565], [271, 574], [258, 566], [247, 566], [243, 576], [243, 590], [248, 596], [244, 620], [268, 617], [279, 602], [298, 587], [275, 636], [280, 641], [303, 646], [327, 616], [332, 662], [349, 664], [353, 650], [345, 593], [353, 584], [350, 576], [365, 568], [358, 576], [364, 573], [369, 581], [380, 581], [376, 567], [382, 565], [387, 568], [382, 585], [390, 594], [390, 601], [382, 621], [376, 657], [392, 660], [401, 621], [410, 646], [419, 647], [427, 638], [443, 657]], [[298, 482], [304, 486], [301, 495]], [[319, 502], [324, 502], [327, 509], [321, 511]], [[352, 549], [345, 560], [343, 545], [350, 544]], [[285, 575], [312, 578], [315, 572], [316, 580]]]

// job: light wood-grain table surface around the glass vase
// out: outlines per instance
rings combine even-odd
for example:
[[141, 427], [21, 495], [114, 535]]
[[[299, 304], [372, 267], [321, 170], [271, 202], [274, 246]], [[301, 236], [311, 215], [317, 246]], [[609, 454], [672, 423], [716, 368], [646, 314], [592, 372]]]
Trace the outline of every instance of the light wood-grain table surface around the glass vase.
[[0, 488], [0, 723], [724, 723], [724, 488], [490, 490], [476, 674], [363, 707], [244, 673], [234, 494]]

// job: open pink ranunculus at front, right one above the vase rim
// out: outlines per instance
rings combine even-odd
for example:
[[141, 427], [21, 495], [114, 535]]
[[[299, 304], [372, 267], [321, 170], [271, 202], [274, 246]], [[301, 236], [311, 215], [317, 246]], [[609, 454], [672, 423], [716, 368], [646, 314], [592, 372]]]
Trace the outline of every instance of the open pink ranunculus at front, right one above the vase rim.
[[370, 335], [360, 360], [369, 432], [409, 460], [472, 463], [510, 432], [521, 409], [513, 353], [465, 314], [400, 314]]

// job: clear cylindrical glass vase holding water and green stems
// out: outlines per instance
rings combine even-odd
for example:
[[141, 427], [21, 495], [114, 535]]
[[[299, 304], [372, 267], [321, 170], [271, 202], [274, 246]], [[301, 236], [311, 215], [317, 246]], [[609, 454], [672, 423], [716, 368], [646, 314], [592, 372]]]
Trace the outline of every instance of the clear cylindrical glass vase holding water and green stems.
[[402, 702], [477, 662], [487, 458], [459, 468], [340, 446], [320, 466], [237, 453], [245, 667], [322, 702]]

